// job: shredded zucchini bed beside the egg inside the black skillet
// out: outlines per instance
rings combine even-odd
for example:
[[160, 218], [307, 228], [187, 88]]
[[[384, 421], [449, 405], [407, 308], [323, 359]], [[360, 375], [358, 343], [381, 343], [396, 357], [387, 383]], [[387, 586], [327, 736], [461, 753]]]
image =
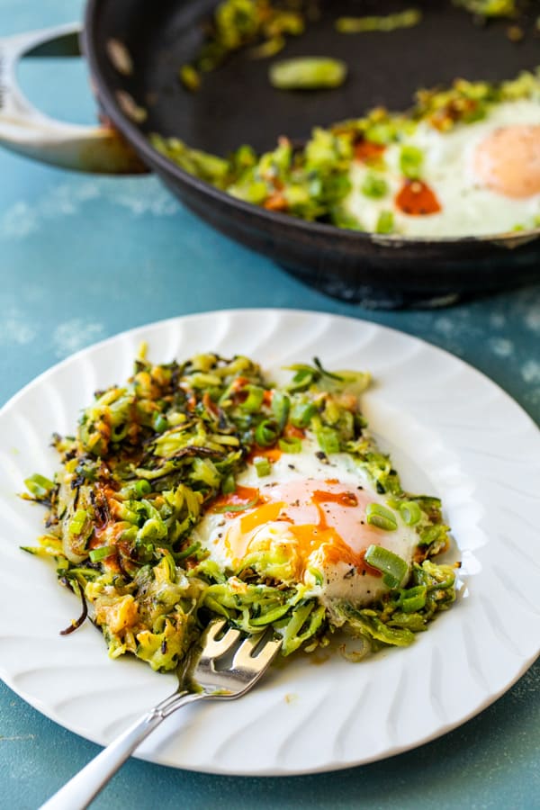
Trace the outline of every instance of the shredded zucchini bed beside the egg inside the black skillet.
[[[524, 72], [498, 85], [460, 79], [447, 89], [420, 90], [409, 112], [392, 113], [379, 107], [363, 118], [341, 121], [329, 129], [317, 127], [302, 148], [294, 148], [290, 139], [280, 138], [277, 147], [263, 155], [257, 155], [250, 146], [241, 146], [229, 157], [217, 157], [190, 148], [180, 139], [162, 138], [157, 134], [150, 139], [154, 148], [184, 171], [238, 200], [301, 220], [366, 231], [365, 223], [347, 206], [347, 197], [353, 188], [351, 166], [357, 159], [376, 171], [382, 196], [386, 189], [381, 184], [388, 173], [384, 160], [386, 148], [403, 145], [403, 180], [421, 179], [424, 156], [418, 148], [413, 154], [408, 146], [419, 124], [428, 124], [445, 133], [482, 121], [500, 103], [536, 100], [540, 97], [539, 71]], [[379, 193], [374, 184], [362, 191], [367, 197]], [[392, 197], [390, 199], [392, 202]], [[535, 221], [527, 227], [536, 225]], [[383, 211], [376, 231], [399, 232], [394, 228], [392, 211]]]

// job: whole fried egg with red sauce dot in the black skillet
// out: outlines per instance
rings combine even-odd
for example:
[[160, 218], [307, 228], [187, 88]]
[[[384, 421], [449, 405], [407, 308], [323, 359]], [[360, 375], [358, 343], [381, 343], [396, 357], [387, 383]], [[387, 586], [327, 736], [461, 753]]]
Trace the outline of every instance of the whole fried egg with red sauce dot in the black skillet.
[[[420, 180], [407, 181], [401, 148], [423, 155]], [[412, 237], [466, 237], [533, 228], [540, 221], [540, 100], [494, 105], [473, 123], [439, 131], [428, 121], [401, 143], [384, 148], [383, 163], [357, 157], [350, 169], [346, 208], [366, 230], [377, 230], [383, 211], [394, 229]], [[368, 175], [387, 191], [363, 193]]]

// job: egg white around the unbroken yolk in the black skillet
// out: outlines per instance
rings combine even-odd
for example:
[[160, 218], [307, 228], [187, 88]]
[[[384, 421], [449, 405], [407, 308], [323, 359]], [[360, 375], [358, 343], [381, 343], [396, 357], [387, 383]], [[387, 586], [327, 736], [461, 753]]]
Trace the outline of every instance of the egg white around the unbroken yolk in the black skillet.
[[466, 237], [505, 233], [521, 225], [533, 226], [540, 216], [540, 193], [524, 199], [509, 198], [482, 184], [473, 171], [475, 149], [494, 130], [515, 124], [540, 124], [540, 99], [500, 103], [487, 117], [474, 123], [455, 125], [440, 132], [425, 121], [403, 140], [424, 154], [422, 179], [437, 194], [442, 211], [427, 216], [408, 216], [398, 211], [393, 199], [401, 189], [402, 144], [391, 144], [384, 152], [387, 166], [382, 173], [389, 193], [373, 199], [361, 192], [372, 169], [354, 161], [350, 169], [352, 191], [345, 207], [367, 230], [375, 230], [382, 211], [392, 211], [396, 231], [411, 237]]

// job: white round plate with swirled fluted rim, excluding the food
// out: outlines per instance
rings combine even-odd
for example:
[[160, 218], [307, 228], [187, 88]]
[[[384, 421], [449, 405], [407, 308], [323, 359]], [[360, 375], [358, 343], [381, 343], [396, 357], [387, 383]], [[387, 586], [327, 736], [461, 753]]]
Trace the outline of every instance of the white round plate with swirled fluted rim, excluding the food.
[[464, 567], [457, 604], [411, 647], [358, 664], [298, 656], [241, 700], [184, 708], [139, 756], [241, 775], [345, 768], [444, 734], [527, 670], [540, 639], [534, 423], [482, 374], [400, 332], [305, 311], [220, 311], [90, 347], [0, 411], [0, 674], [19, 695], [104, 744], [175, 689], [173, 676], [112, 662], [90, 624], [59, 636], [77, 601], [58, 587], [51, 565], [19, 550], [40, 534], [43, 515], [15, 494], [23, 479], [53, 470], [50, 434], [73, 432], [93, 392], [130, 375], [142, 341], [157, 362], [217, 350], [253, 356], [275, 375], [313, 356], [329, 368], [369, 369], [372, 428], [408, 489], [442, 496]]

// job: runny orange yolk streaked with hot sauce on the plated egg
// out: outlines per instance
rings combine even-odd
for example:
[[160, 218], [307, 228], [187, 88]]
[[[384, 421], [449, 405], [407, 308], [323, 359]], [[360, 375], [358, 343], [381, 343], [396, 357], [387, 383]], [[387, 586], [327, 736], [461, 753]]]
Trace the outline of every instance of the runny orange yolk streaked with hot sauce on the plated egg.
[[[238, 509], [238, 500], [234, 500]], [[229, 558], [239, 564], [253, 550], [253, 544], [260, 543], [261, 529], [271, 527], [275, 531], [281, 527], [294, 540], [299, 577], [315, 553], [327, 563], [349, 563], [357, 571], [380, 576], [380, 572], [365, 563], [364, 557], [366, 548], [379, 545], [382, 536], [381, 529], [365, 519], [365, 509], [371, 501], [371, 493], [362, 487], [347, 488], [333, 479], [302, 479], [262, 487], [257, 504], [250, 500], [246, 511], [234, 518], [232, 513], [229, 515], [233, 519], [224, 538]], [[222, 509], [224, 505], [220, 506]]]

